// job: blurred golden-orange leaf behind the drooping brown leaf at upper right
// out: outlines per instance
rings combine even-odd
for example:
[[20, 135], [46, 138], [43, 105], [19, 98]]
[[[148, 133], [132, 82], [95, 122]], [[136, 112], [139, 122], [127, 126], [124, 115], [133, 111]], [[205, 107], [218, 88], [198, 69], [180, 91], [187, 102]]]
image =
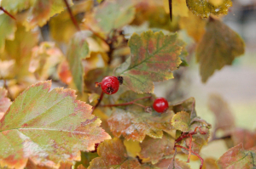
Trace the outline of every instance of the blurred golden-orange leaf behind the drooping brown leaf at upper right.
[[205, 34], [207, 20], [189, 12], [188, 17], [182, 17], [179, 20], [179, 25], [188, 32], [190, 37], [194, 38], [195, 42], [200, 42], [201, 37]]

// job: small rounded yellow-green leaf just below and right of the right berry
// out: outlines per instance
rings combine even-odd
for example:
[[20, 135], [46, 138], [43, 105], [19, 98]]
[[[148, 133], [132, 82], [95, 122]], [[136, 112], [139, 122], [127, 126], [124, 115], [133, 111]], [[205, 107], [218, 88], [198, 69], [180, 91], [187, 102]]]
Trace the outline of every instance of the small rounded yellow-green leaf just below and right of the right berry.
[[190, 116], [185, 111], [178, 112], [172, 117], [172, 126], [182, 132], [189, 132]]

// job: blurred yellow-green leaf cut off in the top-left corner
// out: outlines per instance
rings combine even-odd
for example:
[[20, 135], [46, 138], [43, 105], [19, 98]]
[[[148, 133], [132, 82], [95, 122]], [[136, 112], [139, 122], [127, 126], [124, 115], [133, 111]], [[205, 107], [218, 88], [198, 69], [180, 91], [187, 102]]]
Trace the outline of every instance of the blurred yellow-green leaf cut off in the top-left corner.
[[17, 12], [32, 7], [36, 1], [37, 0], [2, 0], [1, 6], [9, 13], [16, 14]]

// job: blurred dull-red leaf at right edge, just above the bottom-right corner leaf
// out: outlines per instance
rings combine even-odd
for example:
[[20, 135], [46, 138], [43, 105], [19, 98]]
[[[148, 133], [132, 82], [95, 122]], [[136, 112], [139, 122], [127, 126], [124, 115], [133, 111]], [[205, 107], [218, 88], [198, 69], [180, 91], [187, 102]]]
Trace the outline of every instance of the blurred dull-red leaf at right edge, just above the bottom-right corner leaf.
[[236, 130], [232, 132], [232, 140], [234, 145], [242, 144], [244, 149], [250, 149], [256, 146], [256, 132], [236, 128]]

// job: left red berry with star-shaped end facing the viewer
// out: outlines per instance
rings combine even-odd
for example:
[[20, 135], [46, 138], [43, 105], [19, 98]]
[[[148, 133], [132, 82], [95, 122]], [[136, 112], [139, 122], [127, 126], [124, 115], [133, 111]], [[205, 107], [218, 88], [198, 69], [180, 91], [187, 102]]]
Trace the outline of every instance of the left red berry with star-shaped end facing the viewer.
[[107, 94], [117, 93], [119, 80], [116, 76], [107, 76], [102, 80], [102, 91]]

